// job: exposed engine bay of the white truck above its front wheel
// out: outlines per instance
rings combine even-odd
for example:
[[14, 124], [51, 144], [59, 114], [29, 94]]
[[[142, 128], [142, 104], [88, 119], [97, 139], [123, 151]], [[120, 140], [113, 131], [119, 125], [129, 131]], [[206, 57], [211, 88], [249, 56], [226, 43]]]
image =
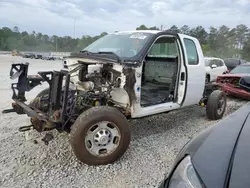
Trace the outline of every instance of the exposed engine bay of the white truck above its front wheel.
[[[76, 107], [79, 112], [91, 106], [106, 105], [111, 102], [112, 95], [115, 95], [113, 98], [117, 98], [118, 92], [120, 95], [126, 80], [121, 65], [84, 63], [81, 65], [82, 68], [71, 75], [71, 81], [77, 88]], [[67, 67], [71, 71], [76, 66], [79, 66], [79, 63]]]

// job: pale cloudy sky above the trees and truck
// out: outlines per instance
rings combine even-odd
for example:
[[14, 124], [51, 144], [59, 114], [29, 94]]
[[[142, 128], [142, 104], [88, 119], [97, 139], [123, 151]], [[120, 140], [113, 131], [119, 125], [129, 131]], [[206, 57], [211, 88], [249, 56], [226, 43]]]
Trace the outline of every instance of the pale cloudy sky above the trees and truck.
[[135, 30], [226, 25], [250, 27], [250, 0], [0, 0], [0, 27], [81, 37]]

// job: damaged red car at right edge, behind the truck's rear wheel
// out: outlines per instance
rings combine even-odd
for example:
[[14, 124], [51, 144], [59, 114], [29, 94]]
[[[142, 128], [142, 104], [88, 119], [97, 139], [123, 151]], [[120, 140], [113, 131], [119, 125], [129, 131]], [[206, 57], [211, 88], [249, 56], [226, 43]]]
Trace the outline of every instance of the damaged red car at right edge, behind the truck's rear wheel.
[[250, 100], [250, 92], [239, 87], [240, 79], [250, 76], [250, 63], [239, 65], [229, 73], [217, 77], [216, 84], [228, 95]]

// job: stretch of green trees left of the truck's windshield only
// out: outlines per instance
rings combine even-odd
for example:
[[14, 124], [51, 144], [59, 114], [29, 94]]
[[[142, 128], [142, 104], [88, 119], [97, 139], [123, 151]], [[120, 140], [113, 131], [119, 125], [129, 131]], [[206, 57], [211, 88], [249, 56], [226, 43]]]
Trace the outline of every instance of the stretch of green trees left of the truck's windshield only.
[[36, 33], [35, 31], [32, 33], [26, 31], [20, 32], [18, 27], [14, 27], [13, 29], [3, 27], [0, 29], [0, 50], [76, 52], [106, 34], [106, 32], [103, 32], [98, 36], [91, 37], [85, 35], [82, 38], [75, 39], [70, 36], [48, 36], [40, 32]]

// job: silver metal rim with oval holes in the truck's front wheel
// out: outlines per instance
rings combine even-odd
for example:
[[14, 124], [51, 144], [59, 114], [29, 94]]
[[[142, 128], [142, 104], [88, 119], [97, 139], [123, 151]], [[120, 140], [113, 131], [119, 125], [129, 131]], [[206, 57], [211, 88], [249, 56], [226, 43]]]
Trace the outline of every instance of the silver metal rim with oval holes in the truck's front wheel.
[[88, 129], [85, 136], [85, 147], [91, 155], [104, 157], [117, 149], [120, 139], [120, 131], [114, 123], [101, 121]]

